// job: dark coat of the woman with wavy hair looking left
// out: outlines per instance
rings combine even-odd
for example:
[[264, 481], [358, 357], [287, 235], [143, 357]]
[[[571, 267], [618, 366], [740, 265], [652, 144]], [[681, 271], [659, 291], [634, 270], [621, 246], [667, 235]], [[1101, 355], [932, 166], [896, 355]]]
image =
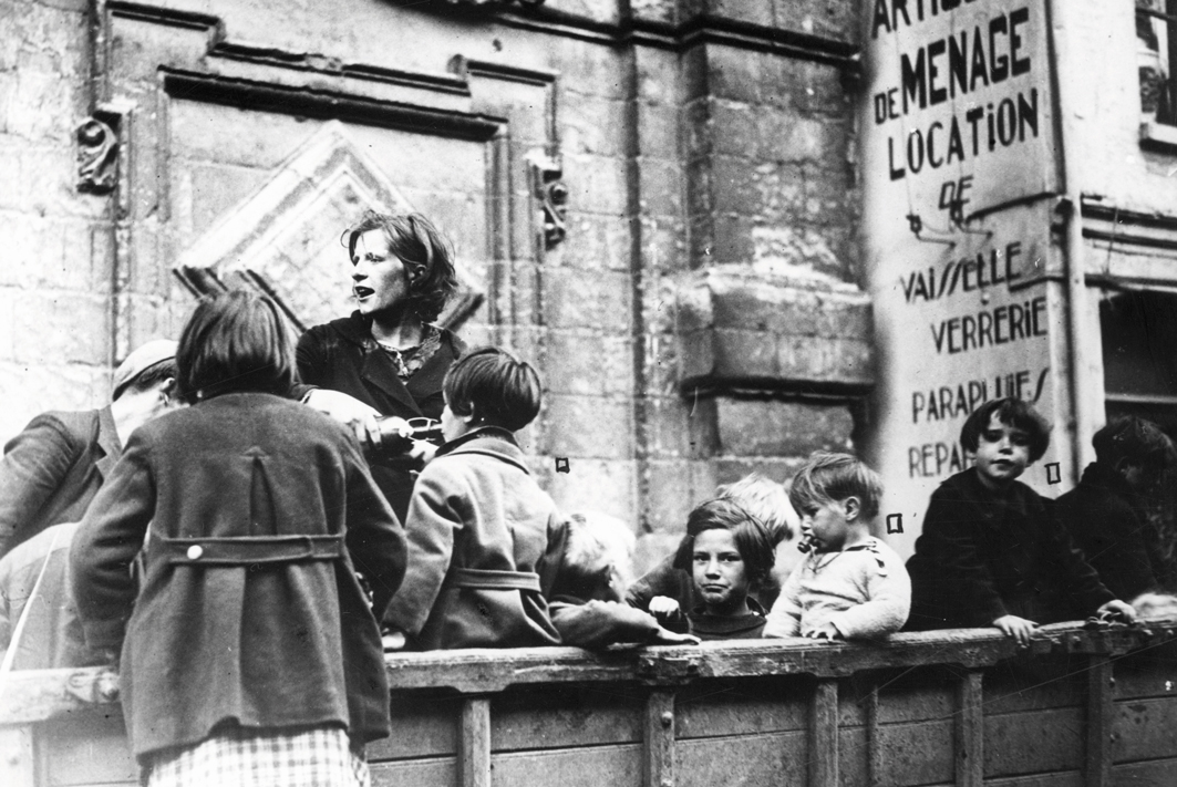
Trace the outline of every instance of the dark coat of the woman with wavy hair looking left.
[[[354, 396], [384, 415], [439, 420], [445, 407], [441, 381], [450, 365], [465, 352], [463, 341], [443, 329], [441, 347], [406, 384], [384, 351], [368, 348], [371, 339], [372, 321], [359, 312], [311, 328], [298, 342], [299, 378], [307, 386]], [[373, 459], [372, 478], [404, 521], [413, 491], [408, 467], [395, 458]]]

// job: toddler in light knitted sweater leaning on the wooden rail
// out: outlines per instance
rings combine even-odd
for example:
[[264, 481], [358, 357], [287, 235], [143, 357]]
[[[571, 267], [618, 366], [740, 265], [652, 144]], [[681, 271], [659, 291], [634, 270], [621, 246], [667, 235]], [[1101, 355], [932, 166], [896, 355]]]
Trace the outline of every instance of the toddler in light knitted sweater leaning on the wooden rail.
[[849, 454], [810, 456], [789, 492], [809, 555], [780, 588], [764, 636], [879, 638], [903, 627], [911, 580], [870, 532], [882, 491], [878, 474]]

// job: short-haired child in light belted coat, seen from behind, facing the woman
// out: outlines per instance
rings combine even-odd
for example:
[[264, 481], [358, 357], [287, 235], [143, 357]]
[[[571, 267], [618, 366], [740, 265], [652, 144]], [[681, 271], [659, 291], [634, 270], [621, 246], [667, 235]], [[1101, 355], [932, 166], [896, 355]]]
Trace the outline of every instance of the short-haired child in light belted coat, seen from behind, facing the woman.
[[539, 413], [539, 378], [484, 347], [443, 392], [446, 443], [413, 488], [408, 569], [385, 625], [421, 651], [559, 645], [539, 571], [560, 518], [513, 434]]

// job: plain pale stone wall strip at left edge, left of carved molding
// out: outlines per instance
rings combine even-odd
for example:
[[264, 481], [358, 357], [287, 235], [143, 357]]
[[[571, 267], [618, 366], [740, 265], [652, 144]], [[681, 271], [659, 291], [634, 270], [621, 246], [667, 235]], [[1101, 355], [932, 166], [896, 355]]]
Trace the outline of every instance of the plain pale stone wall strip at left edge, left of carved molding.
[[75, 187], [86, 0], [0, 2], [0, 436], [108, 396], [109, 206]]

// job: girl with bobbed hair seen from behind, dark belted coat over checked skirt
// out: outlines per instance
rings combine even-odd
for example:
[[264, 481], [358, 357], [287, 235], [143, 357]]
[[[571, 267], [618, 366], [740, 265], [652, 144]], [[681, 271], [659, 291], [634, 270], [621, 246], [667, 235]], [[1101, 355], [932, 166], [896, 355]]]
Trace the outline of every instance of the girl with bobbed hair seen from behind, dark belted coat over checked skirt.
[[74, 536], [145, 785], [367, 785], [388, 734], [377, 615], [403, 532], [354, 436], [285, 396], [292, 351], [268, 299], [201, 301], [175, 359], [192, 406], [131, 435]]

